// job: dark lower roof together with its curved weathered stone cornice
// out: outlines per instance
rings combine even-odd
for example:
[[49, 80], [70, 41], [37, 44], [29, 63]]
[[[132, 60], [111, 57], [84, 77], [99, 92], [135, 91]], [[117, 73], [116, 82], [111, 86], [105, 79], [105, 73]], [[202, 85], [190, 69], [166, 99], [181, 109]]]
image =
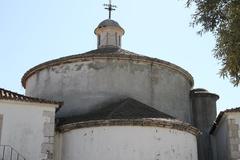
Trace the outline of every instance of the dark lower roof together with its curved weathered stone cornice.
[[193, 135], [199, 134], [199, 130], [190, 124], [132, 98], [111, 103], [88, 114], [57, 119], [56, 123], [59, 132], [102, 126], [143, 126], [170, 128]]

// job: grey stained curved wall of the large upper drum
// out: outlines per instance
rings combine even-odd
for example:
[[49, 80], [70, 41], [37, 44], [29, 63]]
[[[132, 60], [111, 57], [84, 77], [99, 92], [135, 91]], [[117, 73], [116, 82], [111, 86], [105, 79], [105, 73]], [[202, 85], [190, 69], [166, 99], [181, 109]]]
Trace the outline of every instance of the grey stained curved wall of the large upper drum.
[[58, 117], [84, 114], [131, 97], [191, 122], [191, 85], [167, 65], [118, 57], [92, 58], [35, 72], [26, 80], [26, 95], [64, 101]]

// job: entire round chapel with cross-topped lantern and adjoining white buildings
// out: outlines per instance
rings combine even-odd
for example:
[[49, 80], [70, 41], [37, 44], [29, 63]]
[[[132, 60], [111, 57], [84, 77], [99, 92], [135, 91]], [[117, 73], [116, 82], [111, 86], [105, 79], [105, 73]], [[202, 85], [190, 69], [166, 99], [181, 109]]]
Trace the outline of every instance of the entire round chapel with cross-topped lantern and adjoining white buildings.
[[194, 89], [188, 71], [122, 49], [125, 30], [111, 18], [115, 6], [106, 7], [109, 18], [94, 30], [97, 49], [29, 69], [22, 77], [25, 95], [0, 89], [0, 158], [240, 157], [239, 109], [223, 111], [216, 119], [219, 96]]

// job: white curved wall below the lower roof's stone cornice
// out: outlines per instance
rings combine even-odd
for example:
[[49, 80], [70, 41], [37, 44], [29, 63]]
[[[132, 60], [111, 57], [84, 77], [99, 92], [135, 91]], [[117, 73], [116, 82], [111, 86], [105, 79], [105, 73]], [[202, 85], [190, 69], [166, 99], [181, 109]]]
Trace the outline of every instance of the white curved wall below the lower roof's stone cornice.
[[196, 137], [174, 129], [137, 126], [82, 128], [63, 133], [61, 160], [79, 159], [197, 160]]

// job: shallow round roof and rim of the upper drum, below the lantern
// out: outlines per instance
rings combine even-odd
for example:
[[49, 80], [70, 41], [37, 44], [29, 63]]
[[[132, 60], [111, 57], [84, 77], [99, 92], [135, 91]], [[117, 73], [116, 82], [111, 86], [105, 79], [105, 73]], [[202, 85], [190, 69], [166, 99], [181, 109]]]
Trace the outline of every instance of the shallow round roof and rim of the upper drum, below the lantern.
[[39, 64], [33, 68], [31, 68], [30, 70], [28, 70], [22, 77], [22, 86], [25, 88], [26, 87], [26, 81], [27, 79], [35, 74], [36, 72], [39, 72], [45, 68], [51, 67], [51, 66], [56, 66], [56, 65], [60, 65], [60, 64], [64, 64], [64, 63], [72, 63], [75, 61], [87, 61], [87, 60], [93, 60], [95, 58], [108, 58], [108, 59], [130, 59], [130, 60], [136, 60], [136, 61], [145, 61], [145, 62], [154, 62], [157, 64], [161, 64], [164, 65], [166, 67], [169, 67], [175, 71], [180, 72], [181, 74], [183, 74], [183, 76], [185, 76], [191, 85], [193, 85], [193, 77], [191, 76], [190, 73], [188, 73], [186, 70], [182, 69], [181, 67], [172, 64], [170, 62], [164, 61], [164, 60], [160, 60], [157, 58], [151, 58], [151, 57], [147, 57], [147, 56], [143, 56], [140, 54], [136, 54], [121, 48], [99, 48], [96, 50], [92, 50], [86, 53], [82, 53], [82, 54], [76, 54], [76, 55], [72, 55], [72, 56], [66, 56], [66, 57], [62, 57], [62, 58], [58, 58], [58, 59], [54, 59], [54, 60], [50, 60], [48, 62], [44, 62], [42, 64]]

